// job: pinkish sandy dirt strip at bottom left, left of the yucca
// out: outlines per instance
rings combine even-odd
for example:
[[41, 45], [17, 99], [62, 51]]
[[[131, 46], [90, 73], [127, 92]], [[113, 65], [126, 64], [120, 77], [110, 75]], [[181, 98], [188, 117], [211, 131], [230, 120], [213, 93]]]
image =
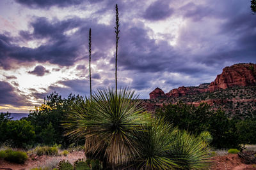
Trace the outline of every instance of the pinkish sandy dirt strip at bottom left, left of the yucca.
[[0, 160], [0, 169], [10, 168], [12, 170], [20, 170], [20, 169], [29, 170], [29, 169], [32, 169], [33, 167], [55, 167], [58, 164], [58, 162], [60, 162], [61, 160], [68, 160], [68, 162], [73, 164], [77, 159], [82, 159], [82, 158], [85, 158], [83, 151], [68, 153], [67, 157], [65, 157], [64, 155], [60, 155], [56, 157], [47, 156], [47, 155], [44, 155], [41, 157], [35, 157], [34, 155], [30, 155], [29, 159], [23, 165], [12, 164], [10, 162]]

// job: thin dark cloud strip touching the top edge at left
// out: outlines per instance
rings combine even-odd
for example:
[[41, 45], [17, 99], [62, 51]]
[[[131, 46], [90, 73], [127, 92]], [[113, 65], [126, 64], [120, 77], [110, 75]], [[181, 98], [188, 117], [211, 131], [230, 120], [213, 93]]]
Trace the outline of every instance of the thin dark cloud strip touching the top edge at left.
[[[84, 0], [15, 0], [17, 3], [34, 8], [49, 8], [51, 6], [67, 7], [83, 3]], [[99, 0], [98, 0], [99, 1]]]

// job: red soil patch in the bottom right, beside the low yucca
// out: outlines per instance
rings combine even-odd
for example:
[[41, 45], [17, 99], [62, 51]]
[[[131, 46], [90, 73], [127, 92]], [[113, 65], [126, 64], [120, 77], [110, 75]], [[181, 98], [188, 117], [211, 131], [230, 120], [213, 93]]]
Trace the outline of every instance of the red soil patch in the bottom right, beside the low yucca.
[[237, 154], [228, 154], [212, 158], [211, 170], [256, 170], [256, 165], [247, 165]]

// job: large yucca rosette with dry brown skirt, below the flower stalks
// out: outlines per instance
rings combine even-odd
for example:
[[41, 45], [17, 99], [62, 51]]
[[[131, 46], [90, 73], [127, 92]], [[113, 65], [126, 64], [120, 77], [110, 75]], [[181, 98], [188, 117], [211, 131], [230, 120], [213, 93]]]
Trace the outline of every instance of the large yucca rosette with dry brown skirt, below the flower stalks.
[[[90, 107], [76, 108], [63, 124], [67, 135], [86, 138], [86, 152], [104, 154], [109, 164], [123, 165], [134, 156], [134, 132], [141, 131], [150, 115], [134, 91], [102, 89], [95, 92]], [[84, 104], [82, 105], [84, 106]]]

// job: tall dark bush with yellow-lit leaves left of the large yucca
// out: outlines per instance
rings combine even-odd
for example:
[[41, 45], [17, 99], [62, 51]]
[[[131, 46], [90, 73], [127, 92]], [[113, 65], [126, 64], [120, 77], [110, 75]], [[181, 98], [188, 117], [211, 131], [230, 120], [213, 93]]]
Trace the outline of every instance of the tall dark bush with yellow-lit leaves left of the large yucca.
[[[31, 122], [35, 127], [36, 143], [42, 143], [44, 145], [58, 143], [67, 147], [74, 142], [63, 136], [64, 129], [61, 124], [66, 114], [70, 112], [72, 105], [79, 101], [79, 99], [79, 96], [76, 97], [71, 94], [65, 99], [58, 93], [53, 92], [47, 96], [44, 104], [29, 113], [26, 120]], [[84, 138], [81, 139], [81, 143], [79, 144], [84, 145]]]

